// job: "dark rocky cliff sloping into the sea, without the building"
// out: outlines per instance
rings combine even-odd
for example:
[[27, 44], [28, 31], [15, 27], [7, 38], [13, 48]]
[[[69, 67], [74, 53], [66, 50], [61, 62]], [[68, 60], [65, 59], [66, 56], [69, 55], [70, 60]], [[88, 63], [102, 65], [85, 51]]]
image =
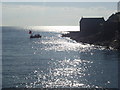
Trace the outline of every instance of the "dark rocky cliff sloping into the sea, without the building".
[[112, 47], [120, 50], [120, 12], [112, 14], [108, 20], [102, 24], [101, 28], [97, 29], [100, 30], [87, 36], [84, 36], [80, 31], [70, 32], [63, 36], [70, 37], [77, 42], [106, 46], [107, 48]]

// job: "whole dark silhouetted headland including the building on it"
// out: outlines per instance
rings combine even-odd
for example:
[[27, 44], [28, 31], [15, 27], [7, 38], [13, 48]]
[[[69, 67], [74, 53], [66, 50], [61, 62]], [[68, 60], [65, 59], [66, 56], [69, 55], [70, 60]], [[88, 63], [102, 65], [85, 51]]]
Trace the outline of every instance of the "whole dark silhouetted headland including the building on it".
[[120, 50], [120, 12], [110, 15], [105, 21], [100, 18], [81, 18], [80, 31], [63, 34], [77, 42], [112, 47]]

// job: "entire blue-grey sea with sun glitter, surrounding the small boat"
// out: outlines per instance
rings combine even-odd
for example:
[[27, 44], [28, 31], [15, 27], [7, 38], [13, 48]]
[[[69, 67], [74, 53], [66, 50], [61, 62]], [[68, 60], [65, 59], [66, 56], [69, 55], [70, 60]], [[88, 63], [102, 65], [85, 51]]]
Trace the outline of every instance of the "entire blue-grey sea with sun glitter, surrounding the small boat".
[[120, 52], [62, 37], [68, 31], [79, 27], [2, 27], [2, 88], [118, 88]]

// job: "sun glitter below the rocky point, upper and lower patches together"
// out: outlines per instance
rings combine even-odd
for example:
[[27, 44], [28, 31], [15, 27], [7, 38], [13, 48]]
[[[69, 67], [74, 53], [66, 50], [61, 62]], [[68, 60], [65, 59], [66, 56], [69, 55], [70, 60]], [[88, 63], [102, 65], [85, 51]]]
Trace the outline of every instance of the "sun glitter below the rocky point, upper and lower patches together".
[[[74, 55], [71, 52], [77, 54], [78, 52], [86, 52], [95, 48], [94, 45], [83, 45], [70, 38], [63, 39], [59, 35], [45, 37], [44, 40], [34, 41], [33, 43], [36, 46], [37, 44], [43, 45], [42, 48], [40, 46], [32, 46], [32, 48], [36, 48], [34, 49], [34, 54], [38, 55], [39, 50], [45, 50], [47, 52], [54, 51], [54, 55], [56, 53], [60, 54], [60, 52], [64, 51], [64, 55], [62, 56], [63, 59], [56, 59], [52, 56], [50, 61], [48, 61], [48, 68], [45, 71], [36, 69], [33, 72], [34, 78], [36, 78], [35, 81], [26, 83], [26, 87], [90, 87], [90, 85], [87, 84], [88, 81], [85, 79], [85, 76], [90, 75], [88, 70], [91, 68], [93, 61], [80, 59], [78, 55], [75, 56], [76, 54]], [[33, 77], [33, 75], [30, 75], [30, 77]]]

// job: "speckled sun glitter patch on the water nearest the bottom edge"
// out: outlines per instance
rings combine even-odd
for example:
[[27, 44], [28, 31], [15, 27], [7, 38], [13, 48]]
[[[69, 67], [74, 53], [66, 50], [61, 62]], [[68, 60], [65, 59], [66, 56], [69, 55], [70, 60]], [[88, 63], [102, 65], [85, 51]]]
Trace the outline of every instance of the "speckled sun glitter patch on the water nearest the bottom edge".
[[35, 70], [36, 81], [27, 83], [26, 87], [88, 87], [85, 85], [86, 83], [83, 83], [83, 77], [92, 63], [87, 60], [65, 59], [60, 61], [52, 59], [49, 61], [48, 73], [45, 74], [44, 71]]

